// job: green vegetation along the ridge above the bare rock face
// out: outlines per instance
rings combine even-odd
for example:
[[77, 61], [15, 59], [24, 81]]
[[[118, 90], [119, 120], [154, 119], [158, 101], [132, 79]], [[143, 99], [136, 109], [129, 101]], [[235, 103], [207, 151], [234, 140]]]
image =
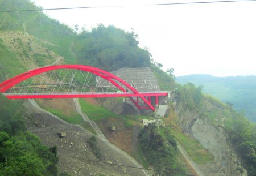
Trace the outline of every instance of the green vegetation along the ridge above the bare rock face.
[[[197, 111], [202, 117], [210, 119], [213, 125], [224, 128], [248, 174], [256, 175], [256, 125], [233, 110], [230, 104], [225, 105], [210, 96], [204, 96], [201, 89], [202, 87], [196, 87], [192, 83], [180, 86], [175, 93], [176, 100], [186, 108]], [[204, 107], [207, 101], [221, 108], [217, 112], [207, 111]], [[225, 117], [223, 123], [218, 120], [220, 117]]]

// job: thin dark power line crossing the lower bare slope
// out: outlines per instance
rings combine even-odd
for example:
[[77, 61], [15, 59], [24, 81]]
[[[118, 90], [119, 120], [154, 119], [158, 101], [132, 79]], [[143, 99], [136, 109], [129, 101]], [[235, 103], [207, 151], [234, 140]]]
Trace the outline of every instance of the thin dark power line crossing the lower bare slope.
[[178, 175], [186, 175], [186, 176], [195, 176], [195, 175], [190, 175], [190, 174], [174, 173], [174, 172], [164, 171], [164, 170], [145, 169], [145, 168], [139, 168], [139, 167], [136, 167], [136, 166], [128, 166], [128, 165], [114, 164], [114, 163], [104, 162], [104, 161], [89, 160], [89, 159], [80, 158], [80, 157], [65, 156], [65, 155], [62, 155], [62, 154], [57, 154], [57, 156], [63, 156], [63, 157], [68, 157], [68, 158], [75, 158], [75, 159], [79, 159], [79, 160], [92, 161], [92, 162], [100, 162], [100, 163], [102, 163], [102, 164], [117, 165], [117, 166], [123, 166], [123, 167], [127, 167], [127, 168], [151, 170], [151, 171], [158, 171], [158, 172], [169, 173], [169, 174], [178, 174]]

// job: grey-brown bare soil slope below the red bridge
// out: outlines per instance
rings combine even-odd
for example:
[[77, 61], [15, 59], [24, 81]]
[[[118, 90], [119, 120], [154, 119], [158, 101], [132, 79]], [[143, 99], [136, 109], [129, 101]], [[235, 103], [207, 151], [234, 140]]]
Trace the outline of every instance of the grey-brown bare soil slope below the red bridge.
[[[49, 147], [57, 146], [60, 158], [58, 163], [60, 172], [67, 172], [71, 175], [144, 175], [141, 169], [111, 165], [112, 163], [135, 166], [126, 156], [115, 151], [97, 137], [97, 147], [102, 155], [102, 160], [98, 160], [86, 143], [86, 140], [92, 135], [90, 132], [79, 126], [63, 123], [51, 115], [34, 108], [29, 103], [27, 103], [27, 107], [32, 114], [27, 119], [28, 131], [39, 136], [44, 145]], [[57, 132], [66, 132], [67, 136], [59, 138]], [[123, 133], [121, 132], [121, 134]], [[111, 135], [115, 136], [113, 139], [119, 138], [117, 141], [120, 142], [118, 143], [121, 143], [122, 136], [125, 136]], [[124, 141], [127, 141], [127, 139]], [[125, 144], [128, 144], [128, 141]], [[107, 162], [108, 164], [97, 161]]]

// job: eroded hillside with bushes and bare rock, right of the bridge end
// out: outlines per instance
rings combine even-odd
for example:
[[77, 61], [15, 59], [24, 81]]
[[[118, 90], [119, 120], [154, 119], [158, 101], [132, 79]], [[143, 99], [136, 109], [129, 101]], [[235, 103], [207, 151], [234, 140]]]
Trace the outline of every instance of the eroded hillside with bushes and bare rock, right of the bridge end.
[[[180, 126], [183, 134], [195, 138], [213, 155], [214, 160], [209, 160], [209, 165], [207, 162], [201, 165], [205, 174], [247, 175], [248, 171], [249, 175], [253, 175], [251, 167], [254, 162], [251, 158], [255, 157], [255, 145], [246, 140], [255, 140], [255, 126], [245, 117], [230, 106], [204, 96], [201, 88], [193, 84], [176, 91], [171, 107], [172, 116], [176, 117], [172, 124]], [[251, 131], [246, 137], [245, 128]]]

